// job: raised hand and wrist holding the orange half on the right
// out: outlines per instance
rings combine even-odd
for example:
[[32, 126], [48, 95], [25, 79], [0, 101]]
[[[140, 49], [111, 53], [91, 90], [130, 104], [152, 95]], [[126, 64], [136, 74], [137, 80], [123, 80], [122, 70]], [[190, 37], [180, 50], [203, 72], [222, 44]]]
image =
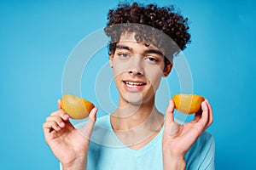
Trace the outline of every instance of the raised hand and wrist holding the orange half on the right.
[[202, 112], [195, 113], [192, 122], [180, 125], [174, 122], [174, 104], [171, 100], [166, 109], [165, 131], [163, 133], [164, 169], [185, 169], [185, 154], [207, 127], [212, 124], [212, 107], [207, 101], [201, 104]]

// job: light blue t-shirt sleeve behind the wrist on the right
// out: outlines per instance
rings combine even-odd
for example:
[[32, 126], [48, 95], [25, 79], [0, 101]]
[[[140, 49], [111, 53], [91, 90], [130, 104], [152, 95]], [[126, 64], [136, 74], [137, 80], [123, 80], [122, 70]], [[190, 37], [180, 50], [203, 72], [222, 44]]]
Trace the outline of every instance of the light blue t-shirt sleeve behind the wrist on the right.
[[186, 169], [212, 170], [215, 158], [215, 142], [210, 133], [202, 133], [185, 156]]

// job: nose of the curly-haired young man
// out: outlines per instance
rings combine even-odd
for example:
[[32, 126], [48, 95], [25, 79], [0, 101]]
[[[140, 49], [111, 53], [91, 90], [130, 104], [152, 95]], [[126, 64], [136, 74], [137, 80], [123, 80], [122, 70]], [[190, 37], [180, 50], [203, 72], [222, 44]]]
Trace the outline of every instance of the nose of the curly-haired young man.
[[131, 59], [130, 68], [128, 69], [130, 75], [143, 75], [143, 61], [140, 56], [133, 56]]

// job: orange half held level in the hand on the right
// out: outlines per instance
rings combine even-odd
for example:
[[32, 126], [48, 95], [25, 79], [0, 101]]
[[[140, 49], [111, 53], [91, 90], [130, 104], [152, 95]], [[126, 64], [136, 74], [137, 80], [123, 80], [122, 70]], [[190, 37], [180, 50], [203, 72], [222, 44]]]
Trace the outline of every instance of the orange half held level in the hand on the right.
[[193, 114], [201, 109], [204, 97], [195, 94], [175, 94], [172, 100], [177, 111]]

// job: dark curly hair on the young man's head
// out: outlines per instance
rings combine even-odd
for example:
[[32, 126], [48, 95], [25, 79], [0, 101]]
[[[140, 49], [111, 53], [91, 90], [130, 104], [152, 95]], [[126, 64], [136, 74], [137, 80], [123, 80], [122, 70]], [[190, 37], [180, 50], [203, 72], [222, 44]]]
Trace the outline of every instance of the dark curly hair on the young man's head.
[[[177, 48], [175, 48], [175, 45], [172, 46], [172, 44], [166, 43], [163, 37], [157, 33], [153, 35], [151, 31], [148, 36], [148, 27], [142, 29], [142, 27], [130, 23], [146, 25], [164, 32], [172, 38]], [[121, 24], [119, 29], [113, 28], [114, 25], [119, 24]], [[145, 44], [157, 42], [157, 47], [161, 46], [165, 50], [172, 48], [172, 51], [168, 52], [171, 56], [186, 48], [186, 44], [190, 42], [188, 19], [178, 14], [174, 6], [158, 7], [156, 4], [144, 6], [138, 3], [120, 3], [118, 8], [109, 10], [108, 24], [104, 31], [111, 38], [110, 53], [114, 53], [116, 42], [119, 42], [119, 37], [124, 32], [135, 32], [137, 42], [145, 42]]]

